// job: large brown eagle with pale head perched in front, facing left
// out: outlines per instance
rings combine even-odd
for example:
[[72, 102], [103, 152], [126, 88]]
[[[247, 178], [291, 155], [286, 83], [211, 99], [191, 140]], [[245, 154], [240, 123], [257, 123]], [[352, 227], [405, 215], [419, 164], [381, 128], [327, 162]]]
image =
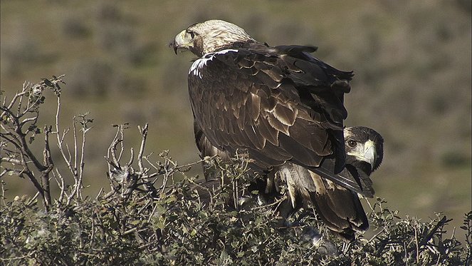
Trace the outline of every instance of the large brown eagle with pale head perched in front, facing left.
[[[193, 24], [170, 46], [198, 57], [188, 87], [202, 156], [246, 153], [251, 169], [268, 181], [285, 176], [293, 208], [316, 200], [301, 196], [304, 191], [324, 191], [327, 208], [343, 221], [330, 229], [346, 240], [367, 230], [357, 193], [372, 198], [372, 181], [368, 171], [350, 167], [345, 149], [344, 94], [352, 71], [315, 58], [315, 46], [269, 46], [222, 20]], [[285, 174], [290, 169], [309, 174]]]

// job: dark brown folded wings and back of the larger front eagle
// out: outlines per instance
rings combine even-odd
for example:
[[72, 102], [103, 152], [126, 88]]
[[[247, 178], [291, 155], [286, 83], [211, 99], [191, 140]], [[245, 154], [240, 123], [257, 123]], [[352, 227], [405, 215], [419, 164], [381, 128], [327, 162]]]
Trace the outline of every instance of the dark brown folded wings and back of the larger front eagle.
[[222, 150], [248, 150], [268, 169], [290, 160], [362, 193], [362, 183], [340, 173], [343, 94], [352, 73], [319, 61], [308, 53], [313, 48], [304, 47], [261, 46], [206, 56], [189, 73], [196, 123]]

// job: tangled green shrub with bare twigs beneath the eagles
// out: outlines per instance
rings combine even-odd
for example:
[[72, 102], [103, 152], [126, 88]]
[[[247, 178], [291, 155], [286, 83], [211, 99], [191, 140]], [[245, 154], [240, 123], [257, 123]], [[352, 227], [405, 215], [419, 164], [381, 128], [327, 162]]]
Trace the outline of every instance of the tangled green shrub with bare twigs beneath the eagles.
[[[217, 158], [221, 176], [233, 180], [220, 190], [199, 185], [168, 153], [145, 153], [148, 127], [138, 127], [135, 152], [125, 146], [127, 125], [115, 125], [105, 162], [109, 187], [85, 196], [86, 142], [94, 121], [88, 114], [63, 128], [63, 76], [23, 83], [13, 98], [1, 99], [1, 265], [470, 265], [472, 212], [458, 231], [446, 232], [444, 215], [424, 222], [400, 218], [385, 201], [372, 203], [375, 234], [346, 243], [332, 237], [302, 210], [296, 227], [278, 227], [274, 205], [238, 208], [249, 178], [245, 158], [231, 165]], [[51, 93], [51, 91], [53, 93]], [[56, 124], [38, 127], [41, 111], [56, 98]], [[68, 136], [71, 135], [71, 138]], [[41, 137], [41, 138], [40, 138]], [[68, 141], [68, 139], [70, 141]], [[36, 149], [34, 148], [36, 147]], [[39, 149], [38, 149], [39, 147]], [[38, 150], [35, 152], [35, 150]], [[129, 156], [127, 156], [129, 154]], [[156, 158], [157, 157], [157, 158]], [[59, 168], [63, 161], [65, 168]], [[36, 195], [4, 198], [5, 177], [23, 178]], [[53, 187], [56, 187], [58, 193]], [[238, 189], [234, 189], [238, 188]], [[201, 194], [208, 193], [204, 199]], [[367, 202], [368, 203], [368, 202]], [[321, 239], [314, 238], [322, 235]], [[464, 235], [465, 242], [456, 239]]]

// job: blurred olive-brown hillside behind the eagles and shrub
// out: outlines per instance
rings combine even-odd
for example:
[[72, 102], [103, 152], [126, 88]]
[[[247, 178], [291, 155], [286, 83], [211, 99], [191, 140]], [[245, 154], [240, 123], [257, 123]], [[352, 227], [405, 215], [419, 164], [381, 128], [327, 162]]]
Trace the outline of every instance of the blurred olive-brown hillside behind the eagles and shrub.
[[[2, 93], [11, 98], [23, 81], [66, 75], [63, 127], [80, 113], [94, 119], [85, 160], [90, 195], [107, 184], [112, 124], [130, 123], [128, 148], [139, 147], [137, 126], [148, 122], [147, 153], [198, 160], [187, 94], [194, 56], [176, 56], [167, 44], [190, 24], [224, 19], [272, 46], [318, 46], [322, 61], [355, 71], [345, 124], [384, 136], [374, 188], [400, 216], [444, 212], [457, 226], [471, 210], [470, 0], [0, 3]], [[54, 124], [55, 101], [46, 99], [41, 123]], [[34, 192], [26, 180], [4, 179], [9, 200]]]

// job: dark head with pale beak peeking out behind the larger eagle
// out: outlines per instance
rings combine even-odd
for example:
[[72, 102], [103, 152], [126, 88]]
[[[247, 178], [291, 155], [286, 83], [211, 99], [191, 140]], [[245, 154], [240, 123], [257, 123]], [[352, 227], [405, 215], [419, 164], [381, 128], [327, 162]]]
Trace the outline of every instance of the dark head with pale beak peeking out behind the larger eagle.
[[[353, 126], [344, 129], [345, 149], [348, 157], [370, 165], [374, 172], [384, 157], [384, 138], [372, 128]], [[349, 160], [349, 158], [348, 158]]]

